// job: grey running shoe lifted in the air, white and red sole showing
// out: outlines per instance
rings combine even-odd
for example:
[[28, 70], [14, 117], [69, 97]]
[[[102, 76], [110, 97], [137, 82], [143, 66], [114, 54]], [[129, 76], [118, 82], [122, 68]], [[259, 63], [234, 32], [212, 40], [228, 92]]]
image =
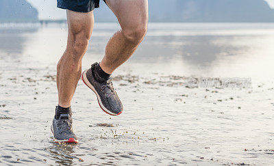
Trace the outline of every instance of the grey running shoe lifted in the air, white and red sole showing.
[[85, 70], [82, 74], [83, 82], [95, 92], [99, 106], [105, 113], [110, 115], [120, 115], [123, 111], [123, 105], [112, 85], [112, 78], [107, 81], [95, 79], [95, 66], [92, 64], [91, 68]]

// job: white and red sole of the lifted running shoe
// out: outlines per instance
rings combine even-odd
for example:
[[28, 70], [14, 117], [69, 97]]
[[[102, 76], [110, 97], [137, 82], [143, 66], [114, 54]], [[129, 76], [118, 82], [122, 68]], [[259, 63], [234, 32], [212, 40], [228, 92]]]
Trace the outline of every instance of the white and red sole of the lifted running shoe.
[[88, 81], [88, 79], [86, 78], [86, 72], [88, 70], [85, 70], [83, 73], [82, 73], [82, 81], [84, 82], [84, 84], [86, 84], [86, 86], [88, 86], [90, 89], [92, 89], [93, 92], [95, 92], [96, 96], [97, 96], [97, 101], [98, 101], [98, 104], [99, 104], [99, 107], [105, 112], [105, 113], [108, 113], [109, 115], [113, 115], [113, 116], [116, 116], [116, 115], [120, 115], [123, 110], [119, 113], [112, 113], [112, 111], [106, 109], [102, 102], [101, 102], [101, 98], [99, 96], [99, 94], [96, 92], [95, 88], [91, 85], [90, 81]]

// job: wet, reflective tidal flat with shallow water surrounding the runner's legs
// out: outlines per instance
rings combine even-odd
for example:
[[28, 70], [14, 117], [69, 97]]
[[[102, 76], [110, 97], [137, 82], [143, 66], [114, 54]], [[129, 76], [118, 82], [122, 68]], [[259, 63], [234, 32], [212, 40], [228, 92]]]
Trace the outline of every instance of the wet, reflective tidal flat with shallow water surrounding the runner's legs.
[[[83, 69], [118, 28], [96, 24]], [[79, 81], [78, 145], [53, 143], [50, 131], [66, 31], [0, 26], [0, 165], [274, 164], [274, 24], [151, 23], [114, 72], [124, 113], [103, 113]]]

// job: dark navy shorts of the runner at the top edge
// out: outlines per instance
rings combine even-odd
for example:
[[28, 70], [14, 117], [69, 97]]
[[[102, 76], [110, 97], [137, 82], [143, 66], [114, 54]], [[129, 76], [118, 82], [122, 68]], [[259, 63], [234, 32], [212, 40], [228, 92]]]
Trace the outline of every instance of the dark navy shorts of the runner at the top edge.
[[99, 3], [100, 0], [57, 0], [57, 7], [74, 12], [91, 12], [99, 8]]

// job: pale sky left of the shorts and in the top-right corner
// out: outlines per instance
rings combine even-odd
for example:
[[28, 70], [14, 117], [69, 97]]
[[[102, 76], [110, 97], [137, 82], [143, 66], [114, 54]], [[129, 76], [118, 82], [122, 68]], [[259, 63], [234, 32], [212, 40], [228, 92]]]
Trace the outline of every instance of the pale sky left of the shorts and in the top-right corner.
[[[56, 8], [56, 0], [27, 0], [38, 9], [40, 19], [64, 19], [65, 10]], [[274, 8], [274, 0], [266, 0]]]

